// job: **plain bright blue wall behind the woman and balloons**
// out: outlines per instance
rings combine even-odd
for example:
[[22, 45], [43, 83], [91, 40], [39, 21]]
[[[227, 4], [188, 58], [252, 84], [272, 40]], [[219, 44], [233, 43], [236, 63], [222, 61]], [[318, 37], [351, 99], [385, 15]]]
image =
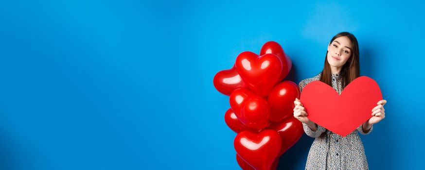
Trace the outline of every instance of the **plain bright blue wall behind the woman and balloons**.
[[403, 2], [1, 1], [0, 169], [239, 169], [215, 73], [273, 40], [298, 84], [342, 31], [388, 101], [361, 135], [370, 168], [424, 168], [424, 3]]

